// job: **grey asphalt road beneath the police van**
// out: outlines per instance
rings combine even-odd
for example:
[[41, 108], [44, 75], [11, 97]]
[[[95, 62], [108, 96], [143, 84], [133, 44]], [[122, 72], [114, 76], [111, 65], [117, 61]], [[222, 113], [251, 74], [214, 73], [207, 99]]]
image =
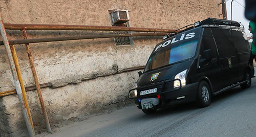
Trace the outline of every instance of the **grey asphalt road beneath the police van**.
[[250, 88], [215, 96], [206, 108], [189, 103], [145, 115], [131, 105], [43, 136], [256, 136], [256, 78]]

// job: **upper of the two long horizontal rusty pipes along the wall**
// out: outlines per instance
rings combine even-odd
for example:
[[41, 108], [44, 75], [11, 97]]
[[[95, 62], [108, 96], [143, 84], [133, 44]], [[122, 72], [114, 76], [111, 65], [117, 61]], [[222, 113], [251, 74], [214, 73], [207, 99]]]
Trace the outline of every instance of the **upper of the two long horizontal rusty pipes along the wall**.
[[90, 31], [137, 31], [173, 32], [176, 29], [153, 29], [136, 27], [86, 26], [86, 25], [42, 25], [42, 24], [5, 24], [8, 30], [90, 30]]

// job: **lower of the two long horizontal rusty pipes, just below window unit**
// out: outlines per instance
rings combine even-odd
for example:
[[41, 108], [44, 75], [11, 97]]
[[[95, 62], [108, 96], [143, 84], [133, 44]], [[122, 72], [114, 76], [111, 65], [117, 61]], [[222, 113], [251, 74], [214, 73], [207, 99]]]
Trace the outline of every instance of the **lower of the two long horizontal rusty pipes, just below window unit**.
[[[22, 39], [22, 40], [9, 40], [10, 44], [28, 44], [40, 42], [53, 42], [53, 41], [66, 41], [66, 40], [79, 40], [79, 39], [94, 39], [94, 38], [112, 38], [112, 37], [136, 37], [136, 36], [163, 36], [168, 33], [136, 33], [136, 34], [104, 34], [104, 35], [89, 35], [89, 36], [73, 36], [73, 37], [54, 37], [54, 38], [37, 38], [37, 39]], [[3, 41], [0, 41], [3, 45]]]

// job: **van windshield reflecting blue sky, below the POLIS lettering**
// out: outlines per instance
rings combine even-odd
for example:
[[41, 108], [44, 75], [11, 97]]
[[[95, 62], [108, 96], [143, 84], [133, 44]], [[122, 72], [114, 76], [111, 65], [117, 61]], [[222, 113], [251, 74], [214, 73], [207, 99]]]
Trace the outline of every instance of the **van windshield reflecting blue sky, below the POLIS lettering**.
[[153, 53], [146, 63], [145, 72], [194, 57], [197, 43], [198, 40], [177, 43]]

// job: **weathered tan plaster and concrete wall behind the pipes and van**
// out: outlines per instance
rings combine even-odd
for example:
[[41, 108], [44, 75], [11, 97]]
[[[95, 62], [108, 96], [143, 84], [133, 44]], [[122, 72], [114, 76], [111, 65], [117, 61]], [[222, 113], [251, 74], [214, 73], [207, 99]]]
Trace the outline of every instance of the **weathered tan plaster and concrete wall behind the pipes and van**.
[[[108, 10], [127, 9], [131, 27], [177, 29], [207, 17], [223, 18], [220, 0], [214, 1], [0, 1], [4, 22], [15, 24], [69, 24], [111, 26]], [[22, 39], [20, 31], [7, 31], [9, 40]], [[29, 38], [106, 34], [96, 31], [27, 31]], [[161, 37], [135, 37], [134, 45], [116, 47], [113, 38], [30, 44], [43, 88], [52, 128], [84, 120], [125, 105], [127, 92], [138, 79], [137, 71], [123, 69], [145, 65]], [[26, 47], [15, 45], [25, 86], [34, 85]], [[91, 79], [95, 78], [95, 79]], [[88, 80], [91, 79], [91, 80]], [[76, 83], [76, 84], [68, 84]], [[5, 48], [0, 46], [0, 92], [14, 89]], [[36, 132], [46, 131], [40, 103], [27, 92]], [[26, 136], [26, 124], [17, 95], [0, 98], [0, 136]], [[4, 126], [2, 126], [4, 125]]]

